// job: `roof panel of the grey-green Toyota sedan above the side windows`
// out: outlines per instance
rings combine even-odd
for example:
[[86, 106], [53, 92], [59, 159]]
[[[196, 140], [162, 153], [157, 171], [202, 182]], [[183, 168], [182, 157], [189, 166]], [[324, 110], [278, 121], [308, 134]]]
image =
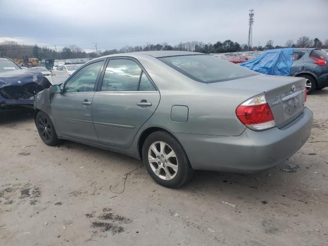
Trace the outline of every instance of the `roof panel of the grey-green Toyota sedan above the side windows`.
[[206, 55], [204, 53], [192, 52], [192, 51], [158, 50], [158, 51], [140, 51], [140, 52], [119, 53], [119, 54], [101, 56], [98, 58], [115, 57], [115, 56], [132, 56], [132, 57], [134, 57], [134, 56], [137, 56], [140, 54], [153, 56], [155, 58], [167, 57], [167, 56], [178, 56], [178, 55]]

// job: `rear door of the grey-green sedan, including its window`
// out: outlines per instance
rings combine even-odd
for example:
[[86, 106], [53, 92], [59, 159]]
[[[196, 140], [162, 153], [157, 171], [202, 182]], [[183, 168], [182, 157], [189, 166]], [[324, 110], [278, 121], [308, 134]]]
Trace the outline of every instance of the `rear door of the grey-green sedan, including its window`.
[[133, 58], [111, 58], [93, 98], [92, 116], [99, 144], [128, 149], [155, 112], [159, 91]]

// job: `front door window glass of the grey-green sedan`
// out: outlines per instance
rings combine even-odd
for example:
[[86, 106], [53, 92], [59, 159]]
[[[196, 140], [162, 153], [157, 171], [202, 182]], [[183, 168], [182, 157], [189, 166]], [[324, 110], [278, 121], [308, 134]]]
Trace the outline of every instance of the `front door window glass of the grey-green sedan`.
[[65, 84], [64, 92], [91, 92], [104, 61], [97, 61], [77, 71]]

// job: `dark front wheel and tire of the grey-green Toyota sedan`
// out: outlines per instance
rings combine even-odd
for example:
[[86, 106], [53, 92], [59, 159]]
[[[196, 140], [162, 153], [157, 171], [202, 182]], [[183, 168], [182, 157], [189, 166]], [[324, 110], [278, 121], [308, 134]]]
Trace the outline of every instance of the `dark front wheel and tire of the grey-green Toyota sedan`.
[[58, 139], [52, 121], [46, 113], [39, 111], [36, 114], [35, 125], [40, 138], [46, 145], [56, 146], [59, 144], [60, 139]]

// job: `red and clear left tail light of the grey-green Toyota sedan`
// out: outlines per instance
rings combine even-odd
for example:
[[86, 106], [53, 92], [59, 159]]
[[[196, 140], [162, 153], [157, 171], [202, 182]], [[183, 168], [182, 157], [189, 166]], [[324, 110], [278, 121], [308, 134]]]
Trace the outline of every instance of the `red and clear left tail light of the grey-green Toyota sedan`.
[[242, 124], [255, 131], [263, 131], [276, 126], [264, 94], [248, 99], [239, 105], [236, 115]]

